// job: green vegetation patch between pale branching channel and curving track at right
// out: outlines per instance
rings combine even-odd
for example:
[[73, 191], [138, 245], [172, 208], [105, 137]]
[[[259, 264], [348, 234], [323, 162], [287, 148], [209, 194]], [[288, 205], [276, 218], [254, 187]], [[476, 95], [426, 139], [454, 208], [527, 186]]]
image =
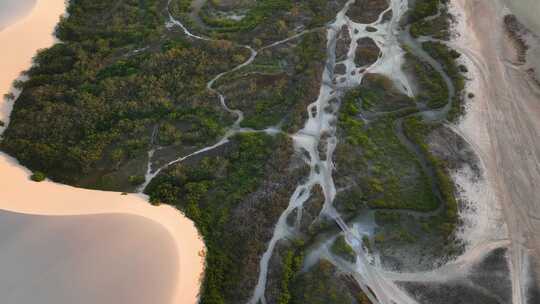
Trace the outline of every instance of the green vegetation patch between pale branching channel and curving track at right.
[[346, 142], [337, 147], [338, 170], [355, 176], [357, 200], [372, 208], [436, 209], [429, 178], [396, 135], [395, 118], [383, 116], [369, 125], [358, 118], [362, 90], [353, 89], [343, 99], [338, 127]]

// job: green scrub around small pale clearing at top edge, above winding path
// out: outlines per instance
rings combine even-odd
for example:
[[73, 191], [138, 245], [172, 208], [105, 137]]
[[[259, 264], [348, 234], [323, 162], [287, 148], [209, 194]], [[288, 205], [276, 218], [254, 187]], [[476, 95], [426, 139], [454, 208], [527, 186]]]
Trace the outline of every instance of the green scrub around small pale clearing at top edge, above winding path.
[[[189, 1], [188, 1], [189, 2]], [[292, 36], [301, 22], [306, 29], [322, 27], [335, 17], [338, 3], [322, 0], [207, 1], [191, 9], [186, 0], [173, 1], [172, 14], [195, 32], [251, 43], [254, 47]]]

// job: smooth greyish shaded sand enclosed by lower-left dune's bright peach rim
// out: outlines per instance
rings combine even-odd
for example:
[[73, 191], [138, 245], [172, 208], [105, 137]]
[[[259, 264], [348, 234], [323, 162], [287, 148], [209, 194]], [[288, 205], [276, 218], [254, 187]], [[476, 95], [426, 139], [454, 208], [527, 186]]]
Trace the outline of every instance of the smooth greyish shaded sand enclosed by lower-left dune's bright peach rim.
[[171, 303], [177, 264], [171, 234], [144, 217], [0, 211], [3, 304]]

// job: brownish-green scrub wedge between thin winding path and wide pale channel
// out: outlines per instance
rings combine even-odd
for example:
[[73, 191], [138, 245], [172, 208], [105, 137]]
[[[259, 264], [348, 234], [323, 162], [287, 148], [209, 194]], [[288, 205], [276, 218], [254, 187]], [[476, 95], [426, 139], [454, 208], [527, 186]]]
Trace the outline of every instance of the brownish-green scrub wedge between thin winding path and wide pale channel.
[[[219, 83], [229, 105], [244, 112], [242, 127], [264, 129], [282, 123], [297, 129], [303, 124], [305, 107], [318, 94], [326, 38], [317, 31], [295, 42], [279, 54], [265, 51], [254, 65]], [[276, 55], [280, 64], [274, 63]]]

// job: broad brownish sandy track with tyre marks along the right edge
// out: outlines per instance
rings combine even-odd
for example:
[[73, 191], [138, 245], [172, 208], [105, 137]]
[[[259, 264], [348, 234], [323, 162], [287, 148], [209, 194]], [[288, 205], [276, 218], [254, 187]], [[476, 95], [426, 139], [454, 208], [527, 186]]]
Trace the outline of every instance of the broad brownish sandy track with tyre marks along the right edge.
[[474, 64], [478, 89], [470, 114], [475, 120], [462, 127], [478, 144], [497, 191], [512, 241], [513, 303], [525, 303], [528, 270], [540, 274], [528, 262], [540, 257], [540, 89], [513, 64], [504, 7], [491, 0], [454, 2], [466, 18], [461, 51]]

